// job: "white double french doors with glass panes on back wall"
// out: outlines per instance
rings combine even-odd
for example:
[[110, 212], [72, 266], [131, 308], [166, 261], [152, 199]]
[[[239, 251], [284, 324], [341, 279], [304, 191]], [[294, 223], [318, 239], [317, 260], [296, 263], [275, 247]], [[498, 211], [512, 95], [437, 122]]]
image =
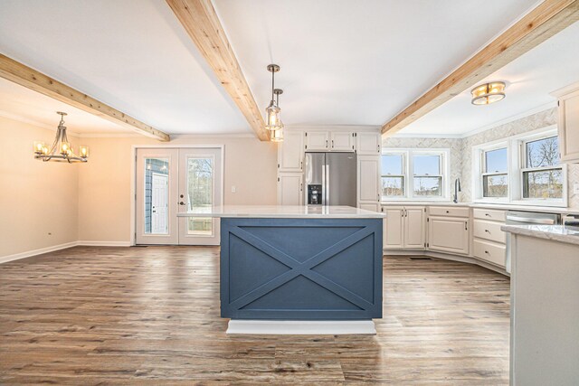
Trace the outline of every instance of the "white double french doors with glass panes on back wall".
[[177, 217], [210, 212], [223, 197], [219, 147], [137, 149], [137, 244], [219, 245], [219, 221]]

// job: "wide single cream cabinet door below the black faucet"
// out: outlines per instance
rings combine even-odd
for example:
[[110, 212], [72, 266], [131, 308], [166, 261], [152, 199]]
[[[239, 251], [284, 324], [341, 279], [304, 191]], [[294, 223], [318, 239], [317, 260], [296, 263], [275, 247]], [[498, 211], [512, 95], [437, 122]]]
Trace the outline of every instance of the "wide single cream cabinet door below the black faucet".
[[442, 252], [469, 254], [469, 219], [430, 217], [428, 248]]

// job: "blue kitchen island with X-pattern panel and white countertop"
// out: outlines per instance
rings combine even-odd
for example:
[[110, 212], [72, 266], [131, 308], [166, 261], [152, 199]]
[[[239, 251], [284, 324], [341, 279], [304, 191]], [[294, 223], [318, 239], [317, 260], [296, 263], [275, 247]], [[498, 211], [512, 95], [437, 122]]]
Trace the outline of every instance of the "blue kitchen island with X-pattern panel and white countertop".
[[221, 315], [230, 334], [375, 334], [384, 214], [348, 206], [223, 206]]

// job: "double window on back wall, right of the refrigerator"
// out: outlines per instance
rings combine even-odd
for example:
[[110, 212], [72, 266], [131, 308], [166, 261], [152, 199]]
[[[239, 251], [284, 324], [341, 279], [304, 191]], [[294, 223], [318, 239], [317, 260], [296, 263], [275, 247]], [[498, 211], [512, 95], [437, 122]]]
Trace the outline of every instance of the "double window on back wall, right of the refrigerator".
[[382, 155], [382, 197], [443, 199], [448, 175], [448, 149], [384, 149]]

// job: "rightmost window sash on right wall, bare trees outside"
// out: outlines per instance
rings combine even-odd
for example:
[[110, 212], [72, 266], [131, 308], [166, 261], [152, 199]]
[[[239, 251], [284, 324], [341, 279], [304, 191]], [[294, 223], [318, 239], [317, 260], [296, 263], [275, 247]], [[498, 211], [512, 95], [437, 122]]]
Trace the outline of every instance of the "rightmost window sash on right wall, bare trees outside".
[[523, 143], [525, 165], [523, 198], [563, 198], [563, 168], [559, 165], [558, 137], [546, 137]]

